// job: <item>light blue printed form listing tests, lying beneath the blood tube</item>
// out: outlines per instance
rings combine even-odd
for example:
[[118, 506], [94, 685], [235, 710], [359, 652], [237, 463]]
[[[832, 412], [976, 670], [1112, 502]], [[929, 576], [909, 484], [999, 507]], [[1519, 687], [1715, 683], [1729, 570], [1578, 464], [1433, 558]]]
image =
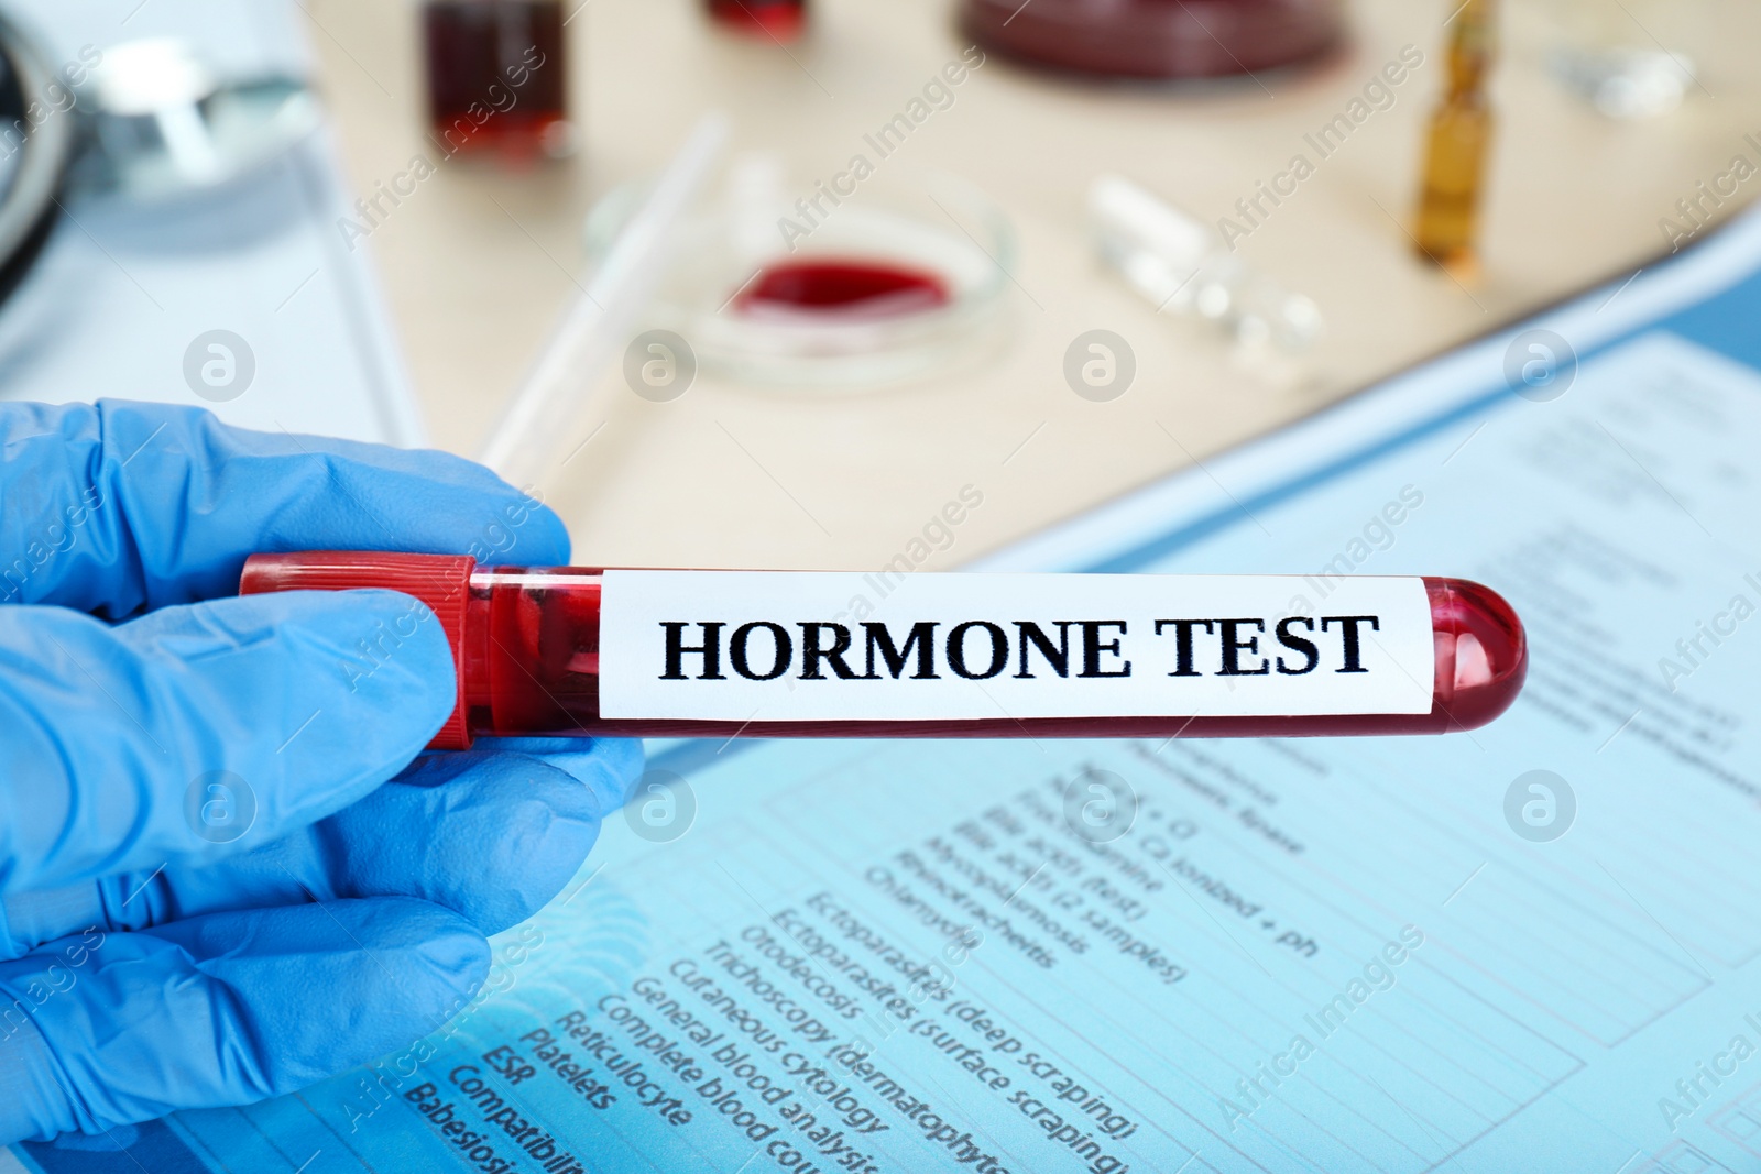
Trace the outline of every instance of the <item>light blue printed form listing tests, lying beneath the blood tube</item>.
[[687, 787], [447, 1030], [122, 1141], [155, 1174], [1761, 1169], [1761, 232], [1719, 248], [1639, 320], [1569, 308], [1557, 398], [1504, 385], [1513, 331], [1398, 428], [1293, 466], [1298, 426], [1030, 554], [1315, 605], [1479, 579], [1532, 637], [1493, 725], [666, 748]]

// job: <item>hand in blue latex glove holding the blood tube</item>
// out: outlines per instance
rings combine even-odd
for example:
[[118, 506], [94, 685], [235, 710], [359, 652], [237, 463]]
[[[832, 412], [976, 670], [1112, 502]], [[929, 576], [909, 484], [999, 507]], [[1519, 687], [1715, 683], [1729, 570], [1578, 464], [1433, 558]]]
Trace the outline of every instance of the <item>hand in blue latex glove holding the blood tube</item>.
[[0, 405], [0, 1142], [275, 1097], [438, 1028], [623, 803], [636, 743], [417, 759], [454, 699], [438, 621], [387, 644], [393, 591], [229, 598], [247, 554], [298, 549], [569, 540], [438, 452]]

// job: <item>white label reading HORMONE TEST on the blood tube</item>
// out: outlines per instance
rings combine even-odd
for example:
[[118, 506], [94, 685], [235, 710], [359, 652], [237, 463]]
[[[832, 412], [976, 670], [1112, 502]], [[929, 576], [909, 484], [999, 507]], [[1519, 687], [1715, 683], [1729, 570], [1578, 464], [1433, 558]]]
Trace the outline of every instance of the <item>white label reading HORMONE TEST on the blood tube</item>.
[[1430, 713], [1423, 579], [608, 570], [615, 720]]

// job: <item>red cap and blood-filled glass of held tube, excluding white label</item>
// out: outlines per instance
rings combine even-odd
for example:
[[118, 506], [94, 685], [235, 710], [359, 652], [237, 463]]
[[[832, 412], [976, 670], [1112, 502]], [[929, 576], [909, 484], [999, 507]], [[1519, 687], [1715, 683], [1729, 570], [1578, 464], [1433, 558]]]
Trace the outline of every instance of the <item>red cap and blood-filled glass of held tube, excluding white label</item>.
[[435, 609], [453, 641], [460, 706], [433, 746], [483, 736], [629, 737], [1340, 737], [1470, 730], [1509, 709], [1529, 671], [1523, 625], [1465, 579], [1425, 579], [1435, 679], [1430, 713], [1323, 716], [984, 718], [958, 722], [601, 720], [599, 602], [586, 567], [475, 567], [470, 558], [312, 551], [255, 554], [241, 595], [393, 588]]

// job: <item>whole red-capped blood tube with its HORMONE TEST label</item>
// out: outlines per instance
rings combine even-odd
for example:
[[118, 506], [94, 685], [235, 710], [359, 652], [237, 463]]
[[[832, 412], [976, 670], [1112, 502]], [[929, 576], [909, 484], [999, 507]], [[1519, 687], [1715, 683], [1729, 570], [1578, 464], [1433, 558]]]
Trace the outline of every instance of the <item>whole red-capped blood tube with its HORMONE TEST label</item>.
[[[1504, 713], [1522, 621], [1463, 579], [477, 567], [255, 554], [239, 591], [391, 588], [453, 644], [475, 736], [1291, 737]], [[365, 641], [394, 655], [409, 632]]]

